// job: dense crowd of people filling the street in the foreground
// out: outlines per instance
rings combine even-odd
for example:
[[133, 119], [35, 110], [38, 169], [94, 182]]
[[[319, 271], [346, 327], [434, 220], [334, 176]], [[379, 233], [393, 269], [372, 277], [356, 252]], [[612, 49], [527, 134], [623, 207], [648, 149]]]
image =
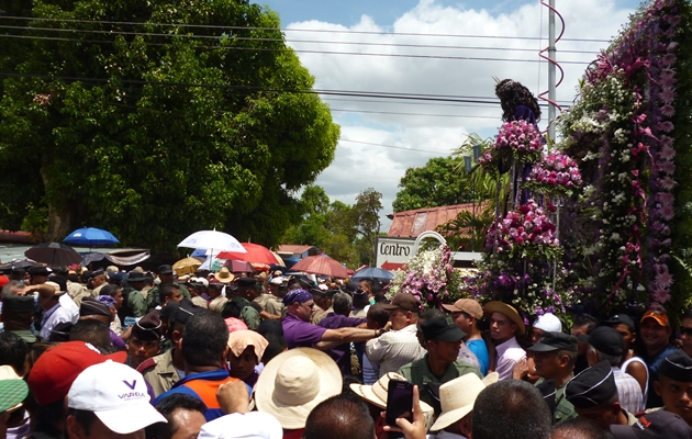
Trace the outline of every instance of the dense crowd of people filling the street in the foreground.
[[[370, 279], [7, 274], [0, 438], [692, 438], [692, 313], [528, 326]], [[392, 380], [412, 417], [387, 425]]]

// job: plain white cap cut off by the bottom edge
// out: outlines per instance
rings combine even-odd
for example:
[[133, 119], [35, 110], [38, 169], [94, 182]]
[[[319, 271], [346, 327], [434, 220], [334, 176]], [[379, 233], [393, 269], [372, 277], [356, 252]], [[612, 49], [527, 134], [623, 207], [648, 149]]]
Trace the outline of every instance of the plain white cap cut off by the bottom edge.
[[197, 439], [281, 439], [283, 429], [274, 416], [263, 412], [234, 413], [202, 426]]

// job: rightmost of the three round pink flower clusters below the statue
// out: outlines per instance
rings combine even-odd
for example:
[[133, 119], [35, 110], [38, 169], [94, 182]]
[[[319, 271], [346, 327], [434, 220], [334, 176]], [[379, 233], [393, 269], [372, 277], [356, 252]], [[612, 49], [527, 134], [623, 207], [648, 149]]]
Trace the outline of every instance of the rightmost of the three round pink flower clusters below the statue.
[[525, 184], [540, 193], [569, 194], [573, 189], [581, 187], [582, 179], [577, 161], [556, 151], [542, 157], [532, 169]]

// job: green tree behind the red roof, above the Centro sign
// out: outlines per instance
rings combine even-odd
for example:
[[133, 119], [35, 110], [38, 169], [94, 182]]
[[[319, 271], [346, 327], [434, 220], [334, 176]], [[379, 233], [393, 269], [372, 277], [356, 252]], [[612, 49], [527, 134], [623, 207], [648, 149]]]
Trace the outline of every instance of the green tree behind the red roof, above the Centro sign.
[[434, 157], [420, 168], [409, 168], [399, 182], [394, 212], [466, 203], [471, 200], [464, 158]]

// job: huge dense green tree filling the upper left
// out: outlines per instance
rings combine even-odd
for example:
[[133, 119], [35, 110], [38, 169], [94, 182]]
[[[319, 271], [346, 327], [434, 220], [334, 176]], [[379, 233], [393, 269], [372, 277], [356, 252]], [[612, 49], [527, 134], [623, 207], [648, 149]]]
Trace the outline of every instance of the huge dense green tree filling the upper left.
[[[93, 225], [171, 249], [216, 227], [277, 244], [338, 126], [247, 0], [3, 2], [0, 226]], [[42, 211], [43, 210], [43, 211]]]

